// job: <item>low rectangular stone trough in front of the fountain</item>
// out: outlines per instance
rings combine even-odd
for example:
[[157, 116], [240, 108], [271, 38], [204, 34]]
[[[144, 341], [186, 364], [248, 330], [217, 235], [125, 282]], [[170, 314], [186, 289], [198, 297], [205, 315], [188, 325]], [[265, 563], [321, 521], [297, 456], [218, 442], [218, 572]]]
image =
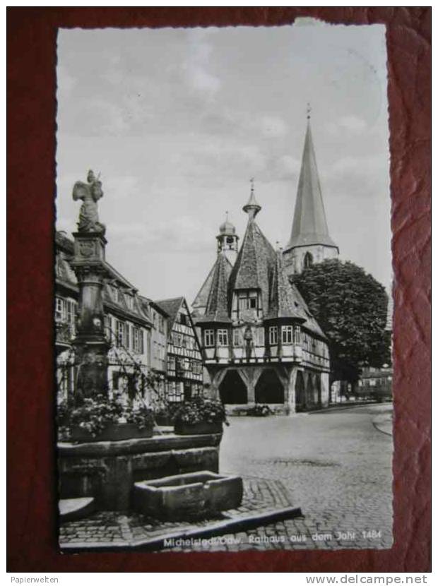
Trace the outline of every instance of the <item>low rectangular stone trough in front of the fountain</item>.
[[242, 478], [203, 470], [136, 482], [133, 505], [161, 520], [187, 520], [237, 508], [242, 495]]

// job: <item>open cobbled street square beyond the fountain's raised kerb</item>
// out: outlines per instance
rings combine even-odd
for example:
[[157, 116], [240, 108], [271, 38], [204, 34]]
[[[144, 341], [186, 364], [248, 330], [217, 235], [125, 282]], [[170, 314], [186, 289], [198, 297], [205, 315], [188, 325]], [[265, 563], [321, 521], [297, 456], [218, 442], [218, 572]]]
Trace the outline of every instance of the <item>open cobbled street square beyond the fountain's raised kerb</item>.
[[[259, 536], [260, 549], [391, 547], [393, 448], [381, 425], [386, 419], [390, 429], [391, 410], [384, 404], [231, 417], [220, 471], [278, 482], [304, 515], [249, 532], [250, 541]], [[285, 541], [266, 544], [274, 534]]]

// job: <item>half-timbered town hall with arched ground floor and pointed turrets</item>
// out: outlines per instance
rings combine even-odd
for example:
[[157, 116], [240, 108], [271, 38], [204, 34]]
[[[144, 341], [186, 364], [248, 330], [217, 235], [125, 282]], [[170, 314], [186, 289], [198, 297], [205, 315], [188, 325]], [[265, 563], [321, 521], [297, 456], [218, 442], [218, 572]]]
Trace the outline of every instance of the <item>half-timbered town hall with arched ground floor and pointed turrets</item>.
[[227, 240], [218, 239], [218, 256], [193, 304], [210, 393], [234, 412], [256, 403], [283, 413], [325, 406], [326, 337], [290, 284], [283, 253], [256, 224], [254, 186], [243, 210], [248, 223], [235, 262]]

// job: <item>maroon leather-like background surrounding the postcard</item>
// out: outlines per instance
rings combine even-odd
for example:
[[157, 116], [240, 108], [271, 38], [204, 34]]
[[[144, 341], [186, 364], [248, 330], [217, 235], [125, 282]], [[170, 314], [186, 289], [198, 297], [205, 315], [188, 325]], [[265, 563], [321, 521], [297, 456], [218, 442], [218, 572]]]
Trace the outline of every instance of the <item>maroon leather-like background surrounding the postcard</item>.
[[[396, 283], [395, 545], [386, 551], [61, 555], [52, 423], [57, 27], [280, 25], [299, 15], [387, 25]], [[431, 8], [8, 8], [7, 43], [8, 570], [429, 570]]]

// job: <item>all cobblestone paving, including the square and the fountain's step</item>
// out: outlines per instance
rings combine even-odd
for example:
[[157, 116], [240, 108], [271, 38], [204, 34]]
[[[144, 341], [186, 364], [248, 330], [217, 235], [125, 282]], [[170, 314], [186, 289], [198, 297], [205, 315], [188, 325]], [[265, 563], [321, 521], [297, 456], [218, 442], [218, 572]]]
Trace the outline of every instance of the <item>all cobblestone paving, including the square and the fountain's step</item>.
[[[220, 472], [244, 477], [238, 517], [266, 508], [299, 506], [303, 517], [247, 532], [188, 539], [165, 551], [247, 549], [387, 549], [392, 545], [392, 438], [375, 421], [391, 405], [297, 414], [232, 417], [220, 448]], [[185, 525], [207, 527], [215, 520]], [[61, 526], [64, 544], [129, 545], [182, 529], [142, 515], [96, 513]]]

